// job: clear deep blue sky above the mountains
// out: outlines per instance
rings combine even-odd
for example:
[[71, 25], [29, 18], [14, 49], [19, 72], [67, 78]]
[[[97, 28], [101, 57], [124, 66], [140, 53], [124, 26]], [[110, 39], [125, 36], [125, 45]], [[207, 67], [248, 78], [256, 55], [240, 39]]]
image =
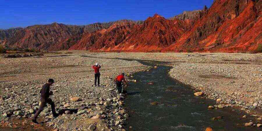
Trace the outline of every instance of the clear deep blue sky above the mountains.
[[184, 10], [208, 8], [213, 0], [0, 0], [0, 29], [34, 24], [86, 25], [122, 19], [170, 18]]

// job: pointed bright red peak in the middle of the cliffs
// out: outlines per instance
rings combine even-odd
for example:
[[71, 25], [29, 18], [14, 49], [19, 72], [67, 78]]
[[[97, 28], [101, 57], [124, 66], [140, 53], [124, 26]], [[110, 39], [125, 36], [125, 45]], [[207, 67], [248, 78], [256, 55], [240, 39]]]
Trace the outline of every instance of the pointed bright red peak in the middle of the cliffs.
[[155, 14], [148, 17], [142, 25], [136, 25], [122, 43], [114, 47], [115, 51], [159, 52], [169, 47], [187, 30], [181, 20], [167, 20]]

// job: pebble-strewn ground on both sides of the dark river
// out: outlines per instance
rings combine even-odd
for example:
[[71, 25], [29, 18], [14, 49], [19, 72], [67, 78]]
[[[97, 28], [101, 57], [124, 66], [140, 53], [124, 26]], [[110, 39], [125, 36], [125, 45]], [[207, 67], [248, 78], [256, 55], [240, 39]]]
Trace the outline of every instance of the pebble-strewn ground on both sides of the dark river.
[[[171, 77], [202, 91], [204, 98], [217, 100], [219, 107], [223, 104], [237, 106], [258, 119], [262, 115], [262, 54], [45, 54], [0, 59], [1, 125], [15, 127], [14, 119], [30, 118], [38, 108], [41, 86], [48, 78], [53, 78], [56, 83], [51, 98], [61, 115], [53, 118], [50, 107], [45, 109], [42, 113], [45, 126], [60, 130], [122, 130], [128, 113], [122, 107], [124, 100], [116, 94], [112, 79], [121, 72], [132, 74], [150, 67], [115, 58], [161, 61], [173, 66], [169, 72]], [[95, 62], [102, 66], [101, 87], [93, 86], [90, 66]], [[29, 118], [25, 123], [31, 124]], [[36, 125], [31, 126], [36, 128]]]

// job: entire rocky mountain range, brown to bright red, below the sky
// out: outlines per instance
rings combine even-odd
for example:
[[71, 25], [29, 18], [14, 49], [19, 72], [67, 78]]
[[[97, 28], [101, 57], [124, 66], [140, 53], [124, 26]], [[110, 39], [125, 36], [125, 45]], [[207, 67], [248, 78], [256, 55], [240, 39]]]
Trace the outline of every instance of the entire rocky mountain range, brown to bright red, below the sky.
[[262, 44], [261, 0], [215, 0], [208, 9], [166, 19], [120, 20], [86, 26], [34, 25], [0, 30], [5, 46], [48, 51], [248, 52]]

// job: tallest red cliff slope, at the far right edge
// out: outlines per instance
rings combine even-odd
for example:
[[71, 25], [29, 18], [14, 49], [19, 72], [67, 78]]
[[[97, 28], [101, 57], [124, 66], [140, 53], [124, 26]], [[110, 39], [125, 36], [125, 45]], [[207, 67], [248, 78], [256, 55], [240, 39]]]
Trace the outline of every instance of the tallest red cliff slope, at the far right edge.
[[192, 29], [162, 50], [254, 51], [261, 44], [261, 1], [216, 0]]

